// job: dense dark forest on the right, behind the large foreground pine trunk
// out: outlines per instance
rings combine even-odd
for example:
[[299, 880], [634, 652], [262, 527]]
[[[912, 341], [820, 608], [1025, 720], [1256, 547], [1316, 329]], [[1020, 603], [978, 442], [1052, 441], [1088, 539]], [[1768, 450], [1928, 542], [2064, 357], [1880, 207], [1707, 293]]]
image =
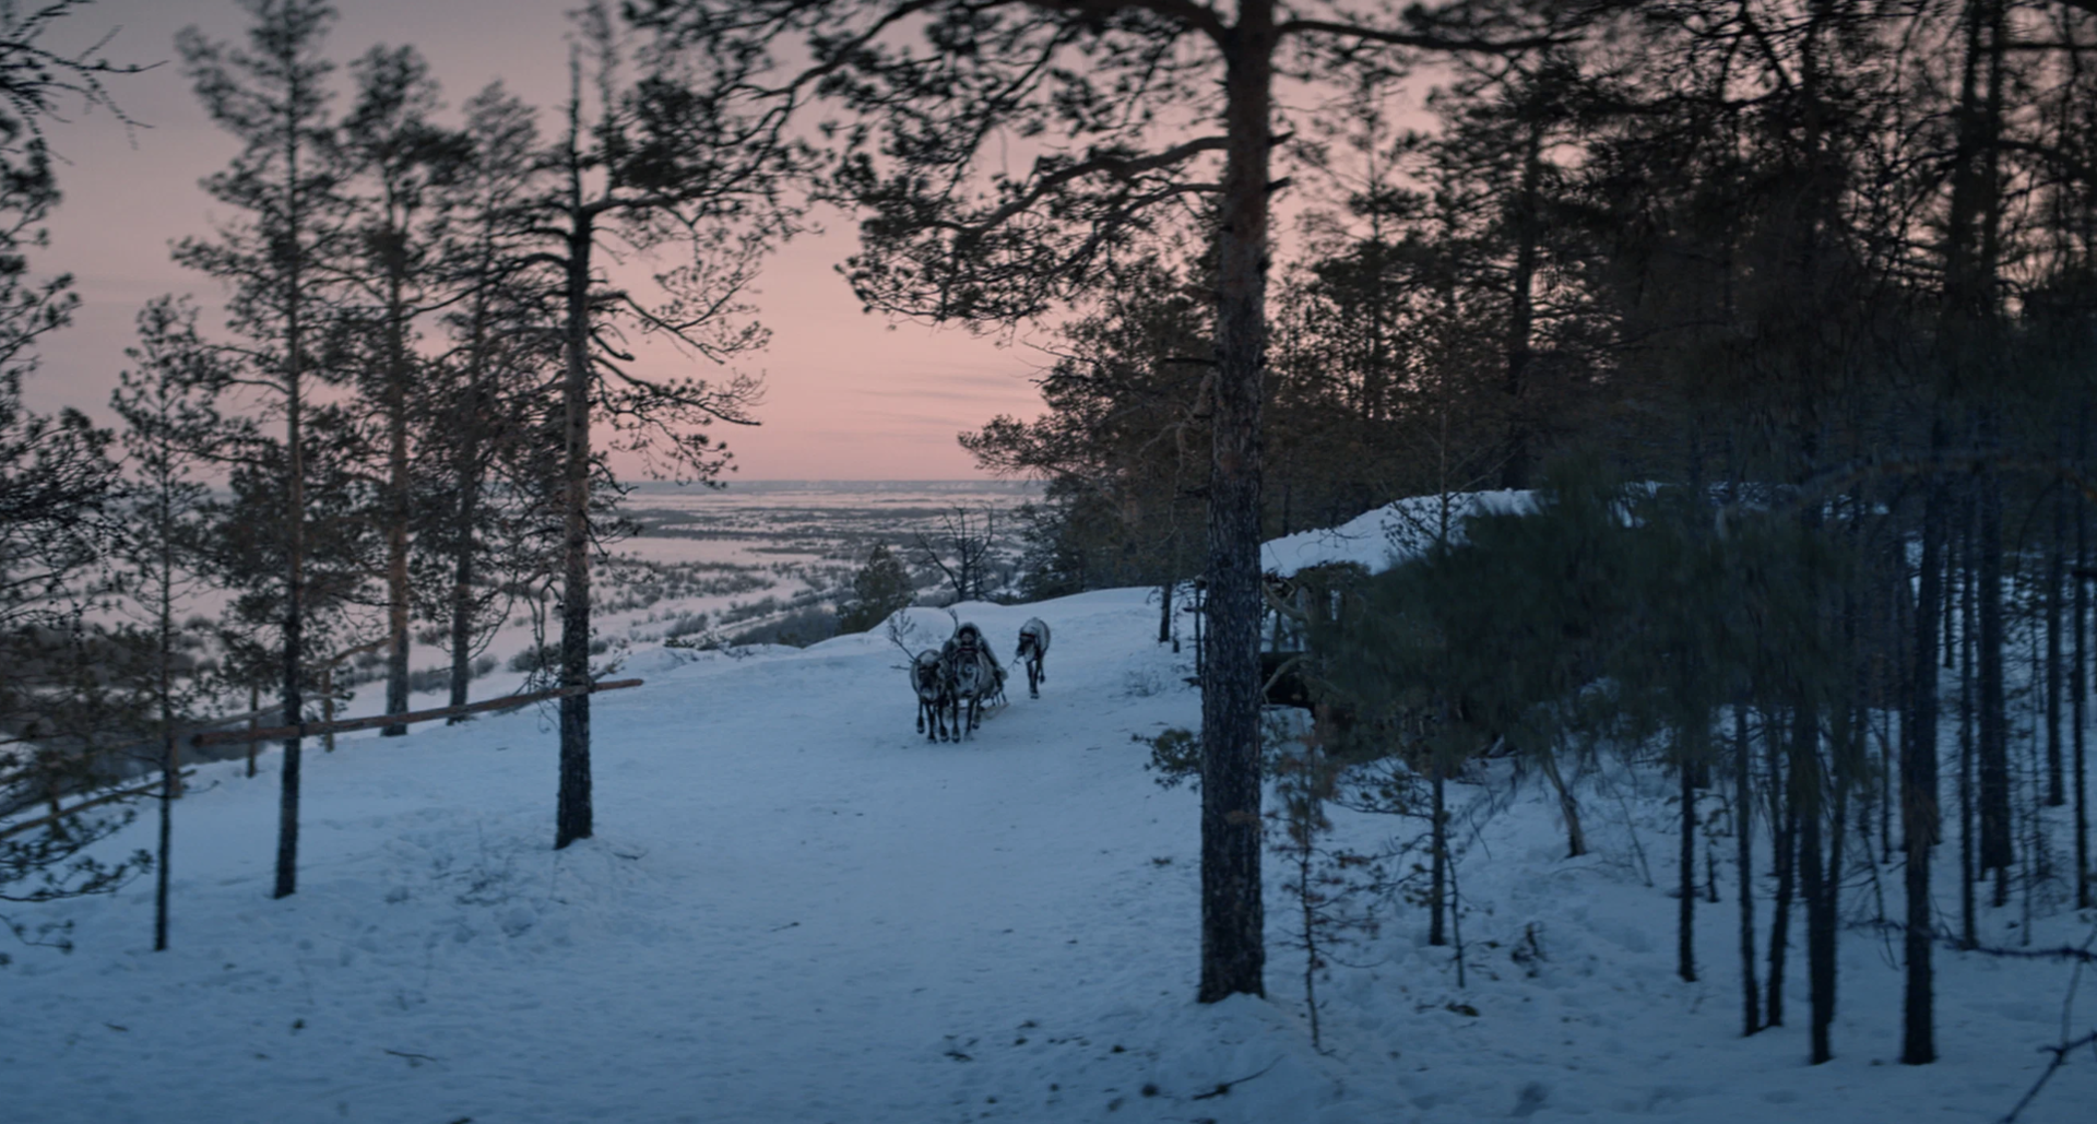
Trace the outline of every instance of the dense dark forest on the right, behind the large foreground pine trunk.
[[[1288, 138], [1311, 201], [1273, 287], [1260, 535], [1541, 489], [1520, 516], [1407, 507], [1436, 539], [1418, 562], [1271, 598], [1327, 707], [1306, 784], [1338, 799], [1399, 755], [1434, 788], [1399, 807], [1439, 826], [1478, 755], [1562, 784], [1560, 757], [1613, 744], [1678, 774], [1686, 979], [1696, 809], [1724, 788], [1778, 879], [1759, 969], [1741, 898], [1743, 1023], [1785, 1019], [1803, 902], [1816, 1059], [1841, 889], [1902, 864], [1904, 1059], [1929, 1061], [1931, 942], [2093, 893], [2097, 10], [1606, 8], [1415, 71], [1432, 128], [1395, 128], [1399, 78], [1371, 71]], [[1191, 245], [1084, 304], [1042, 417], [963, 434], [1051, 484], [1034, 593], [1204, 577], [1216, 260]]]

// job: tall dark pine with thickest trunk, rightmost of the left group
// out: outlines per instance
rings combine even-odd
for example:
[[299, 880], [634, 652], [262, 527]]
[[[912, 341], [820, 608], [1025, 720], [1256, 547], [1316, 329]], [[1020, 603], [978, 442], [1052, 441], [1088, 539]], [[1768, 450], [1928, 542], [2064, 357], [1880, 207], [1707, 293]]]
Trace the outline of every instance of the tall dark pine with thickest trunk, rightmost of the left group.
[[[604, 463], [591, 428], [617, 430], [621, 445], [650, 453], [684, 478], [713, 480], [728, 455], [707, 432], [713, 422], [755, 424], [759, 384], [650, 377], [623, 346], [625, 329], [654, 336], [686, 354], [728, 363], [765, 336], [749, 319], [744, 294], [770, 245], [795, 226], [782, 180], [793, 151], [770, 140], [765, 120], [749, 120], [751, 86], [734, 71], [690, 73], [656, 59], [640, 80], [625, 75], [625, 44], [604, 0], [581, 13], [570, 59], [562, 136], [545, 153], [554, 182], [531, 203], [560, 294], [560, 795], [554, 845], [593, 833], [589, 776], [589, 556], [591, 495]], [[585, 99], [585, 80], [591, 99]], [[604, 283], [604, 239], [673, 250], [682, 262], [656, 275], [667, 298], [644, 304]], [[602, 403], [602, 407], [600, 407]]]

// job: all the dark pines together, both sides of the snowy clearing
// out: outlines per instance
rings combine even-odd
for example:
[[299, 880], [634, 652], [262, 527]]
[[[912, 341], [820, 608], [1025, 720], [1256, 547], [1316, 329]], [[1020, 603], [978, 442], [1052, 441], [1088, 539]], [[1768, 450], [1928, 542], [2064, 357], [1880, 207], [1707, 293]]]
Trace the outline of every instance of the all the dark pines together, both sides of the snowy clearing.
[[[755, 271], [826, 201], [862, 218], [868, 308], [1055, 325], [1044, 411], [963, 434], [1048, 484], [1025, 591], [1155, 585], [1170, 623], [1199, 587], [1204, 1000], [1262, 990], [1262, 768], [1311, 853], [1321, 801], [1397, 765], [1392, 807], [1436, 830], [1436, 937], [1466, 761], [1548, 776], [1573, 851], [1581, 761], [1665, 770], [1684, 977], [1728, 793], [1734, 860], [1776, 879], [1759, 952], [1738, 900], [1743, 1025], [1785, 1017], [1799, 904], [1816, 1059], [1858, 864], [1904, 877], [1910, 1063], [1936, 1057], [1931, 862], [1967, 948], [1982, 910], [2091, 908], [2097, 4], [589, 4], [543, 120], [501, 86], [438, 111], [405, 46], [338, 69], [319, 0], [243, 6], [241, 44], [178, 42], [243, 143], [208, 182], [231, 218], [176, 247], [226, 323], [145, 308], [107, 430], [19, 390], [71, 308], [29, 254], [59, 199], [36, 122], [124, 67], [0, 21], [34, 63], [0, 67], [0, 812], [149, 734], [166, 816], [178, 728], [312, 717], [361, 652], [403, 713], [417, 629], [463, 702], [491, 623], [556, 591], [556, 843], [591, 835], [604, 438], [707, 480], [709, 424], [757, 394], [650, 380], [635, 342], [717, 371], [761, 348]], [[629, 250], [671, 262], [652, 291], [608, 279]], [[1533, 503], [1430, 520], [1384, 575], [1260, 581], [1262, 539], [1493, 489]], [[197, 587], [226, 612], [180, 619]], [[1321, 709], [1277, 749], [1279, 633]], [[120, 820], [0, 839], [0, 893], [105, 889], [122, 866], [67, 862]]]

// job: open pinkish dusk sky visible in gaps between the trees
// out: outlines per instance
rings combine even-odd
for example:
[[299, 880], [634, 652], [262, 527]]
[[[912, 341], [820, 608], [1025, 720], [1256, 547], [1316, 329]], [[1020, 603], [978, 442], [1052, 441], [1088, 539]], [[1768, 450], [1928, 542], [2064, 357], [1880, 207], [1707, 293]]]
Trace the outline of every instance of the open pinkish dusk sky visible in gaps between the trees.
[[[340, 21], [327, 40], [338, 63], [373, 44], [413, 44], [445, 86], [451, 107], [501, 78], [541, 109], [566, 96], [564, 13], [575, 0], [338, 0]], [[107, 401], [132, 342], [132, 317], [159, 294], [195, 294], [206, 306], [218, 283], [178, 268], [172, 241], [208, 235], [226, 210], [197, 180], [239, 151], [189, 90], [174, 55], [174, 34], [197, 25], [216, 40], [245, 36], [233, 0], [99, 0], [82, 8], [46, 46], [84, 44], [117, 29], [113, 61], [159, 63], [117, 78], [109, 92], [140, 128], [126, 134], [107, 113], [65, 107], [48, 126], [65, 164], [65, 203], [50, 224], [42, 273], [71, 271], [82, 298], [71, 329], [48, 338], [44, 369], [29, 380], [31, 409], [75, 405], [109, 419]], [[344, 75], [346, 78], [346, 75]], [[340, 107], [340, 101], [338, 101]], [[759, 428], [721, 436], [736, 451], [734, 478], [751, 480], [929, 480], [977, 476], [954, 442], [996, 413], [1034, 415], [1030, 382], [1046, 363], [1025, 344], [1000, 348], [960, 329], [891, 325], [864, 315], [833, 266], [853, 247], [851, 224], [828, 216], [828, 235], [805, 235], [778, 254], [759, 285], [761, 321], [772, 346], [742, 369], [765, 375]], [[208, 327], [218, 325], [208, 319]], [[656, 373], [671, 369], [665, 356]], [[690, 369], [700, 377], [715, 371]]]

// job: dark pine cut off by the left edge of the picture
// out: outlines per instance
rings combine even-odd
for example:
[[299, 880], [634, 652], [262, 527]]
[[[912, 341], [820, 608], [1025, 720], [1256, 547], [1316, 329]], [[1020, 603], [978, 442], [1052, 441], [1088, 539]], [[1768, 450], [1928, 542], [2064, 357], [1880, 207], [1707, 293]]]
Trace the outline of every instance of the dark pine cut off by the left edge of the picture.
[[[73, 96], [126, 120], [103, 82], [138, 69], [111, 63], [101, 44], [84, 52], [48, 46], [44, 36], [84, 6], [86, 0], [0, 6], [0, 807], [6, 809], [94, 780], [99, 763], [86, 747], [113, 717], [94, 679], [99, 665], [120, 654], [82, 614], [94, 568], [117, 537], [113, 434], [78, 409], [42, 415], [23, 405], [23, 382], [40, 369], [40, 342], [65, 329], [78, 308], [69, 275], [36, 275], [34, 252], [44, 245], [44, 222], [59, 206], [57, 157], [44, 140], [44, 122], [61, 99]], [[128, 820], [128, 809], [103, 809], [52, 820], [48, 830], [0, 835], [0, 902], [122, 887], [151, 856], [99, 856], [96, 845]], [[63, 948], [67, 927], [0, 914], [0, 929], [29, 944]]]

